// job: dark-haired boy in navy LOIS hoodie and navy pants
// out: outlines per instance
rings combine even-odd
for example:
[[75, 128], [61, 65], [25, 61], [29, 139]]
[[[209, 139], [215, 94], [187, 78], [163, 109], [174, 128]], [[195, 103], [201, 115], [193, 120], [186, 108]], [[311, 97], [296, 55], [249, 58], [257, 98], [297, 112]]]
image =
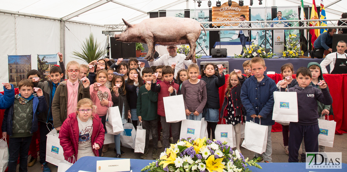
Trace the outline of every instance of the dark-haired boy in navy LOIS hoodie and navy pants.
[[[312, 87], [312, 74], [307, 67], [300, 67], [296, 71], [296, 80], [299, 85], [289, 88], [289, 92], [297, 92], [298, 98], [298, 122], [289, 124], [289, 158], [288, 162], [299, 162], [298, 151], [304, 138], [306, 152], [318, 152], [318, 104], [331, 105], [332, 98], [327, 84], [321, 80], [318, 88]], [[287, 82], [282, 82], [281, 91], [286, 91]]]

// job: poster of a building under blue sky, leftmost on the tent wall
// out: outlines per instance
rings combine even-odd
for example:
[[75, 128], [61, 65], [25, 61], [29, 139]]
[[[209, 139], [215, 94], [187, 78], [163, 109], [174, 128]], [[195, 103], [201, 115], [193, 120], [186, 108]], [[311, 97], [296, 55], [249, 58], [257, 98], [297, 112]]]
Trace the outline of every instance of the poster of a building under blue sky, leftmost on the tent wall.
[[[16, 76], [18, 76], [19, 81], [26, 78], [26, 73], [30, 70], [31, 55], [8, 56], [8, 80], [11, 84], [16, 85]], [[18, 87], [18, 85], [16, 86]]]

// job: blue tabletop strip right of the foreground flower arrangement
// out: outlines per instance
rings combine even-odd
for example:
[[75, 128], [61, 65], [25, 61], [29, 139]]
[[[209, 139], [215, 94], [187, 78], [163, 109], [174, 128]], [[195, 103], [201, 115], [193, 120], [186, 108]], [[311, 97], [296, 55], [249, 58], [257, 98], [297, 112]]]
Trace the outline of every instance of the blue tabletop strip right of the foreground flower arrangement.
[[253, 172], [345, 172], [347, 164], [342, 163], [342, 169], [306, 169], [306, 163], [258, 163], [263, 169], [248, 167]]

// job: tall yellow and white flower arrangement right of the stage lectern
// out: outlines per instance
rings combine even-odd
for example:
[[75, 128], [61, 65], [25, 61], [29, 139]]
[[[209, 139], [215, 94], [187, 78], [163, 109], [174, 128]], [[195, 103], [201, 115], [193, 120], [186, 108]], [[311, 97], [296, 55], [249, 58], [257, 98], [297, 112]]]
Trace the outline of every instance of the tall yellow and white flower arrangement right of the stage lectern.
[[299, 44], [300, 44], [299, 36], [295, 34], [290, 34], [289, 40], [287, 41], [287, 44], [285, 45], [287, 50], [283, 51], [283, 57], [296, 58], [299, 56], [303, 56], [304, 51], [300, 50]]

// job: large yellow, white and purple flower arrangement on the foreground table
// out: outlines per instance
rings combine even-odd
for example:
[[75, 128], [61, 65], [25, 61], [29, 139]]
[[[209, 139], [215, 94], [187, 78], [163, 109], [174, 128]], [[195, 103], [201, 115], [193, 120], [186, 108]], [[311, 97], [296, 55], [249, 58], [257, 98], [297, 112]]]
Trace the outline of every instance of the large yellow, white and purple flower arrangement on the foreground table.
[[249, 172], [247, 166], [262, 169], [254, 161], [238, 151], [233, 151], [227, 142], [219, 140], [182, 138], [171, 144], [161, 154], [160, 159], [150, 163], [141, 171], [149, 172]]

